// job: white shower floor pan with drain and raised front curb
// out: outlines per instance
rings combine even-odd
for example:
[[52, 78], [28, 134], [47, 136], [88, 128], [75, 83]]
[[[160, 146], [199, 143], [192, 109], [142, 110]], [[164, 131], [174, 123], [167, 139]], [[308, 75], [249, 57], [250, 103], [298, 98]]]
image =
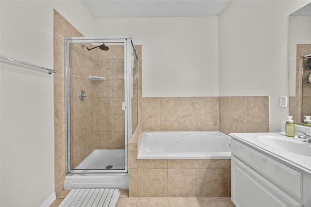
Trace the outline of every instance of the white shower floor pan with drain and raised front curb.
[[64, 189], [128, 189], [128, 174], [120, 173], [124, 166], [124, 150], [94, 150], [75, 168], [78, 173], [65, 176]]

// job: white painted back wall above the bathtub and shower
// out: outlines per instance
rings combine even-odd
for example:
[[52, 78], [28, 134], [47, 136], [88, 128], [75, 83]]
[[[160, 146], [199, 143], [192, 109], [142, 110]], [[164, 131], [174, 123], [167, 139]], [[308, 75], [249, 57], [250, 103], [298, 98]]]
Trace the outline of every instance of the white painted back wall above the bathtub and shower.
[[95, 36], [142, 45], [142, 96], [218, 96], [218, 17], [95, 19]]

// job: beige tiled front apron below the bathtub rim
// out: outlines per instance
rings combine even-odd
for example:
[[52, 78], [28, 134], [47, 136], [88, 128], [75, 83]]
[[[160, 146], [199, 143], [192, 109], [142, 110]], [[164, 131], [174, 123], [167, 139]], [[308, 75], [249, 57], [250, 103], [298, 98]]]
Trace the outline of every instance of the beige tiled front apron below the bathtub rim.
[[138, 159], [137, 169], [130, 169], [129, 195], [130, 197], [229, 197], [230, 176], [230, 159]]

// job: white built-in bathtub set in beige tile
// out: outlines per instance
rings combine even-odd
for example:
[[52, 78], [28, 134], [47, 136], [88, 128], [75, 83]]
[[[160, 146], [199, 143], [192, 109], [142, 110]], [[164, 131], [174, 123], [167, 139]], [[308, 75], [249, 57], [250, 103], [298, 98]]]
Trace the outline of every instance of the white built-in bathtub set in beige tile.
[[137, 159], [231, 159], [230, 143], [220, 131], [143, 132]]

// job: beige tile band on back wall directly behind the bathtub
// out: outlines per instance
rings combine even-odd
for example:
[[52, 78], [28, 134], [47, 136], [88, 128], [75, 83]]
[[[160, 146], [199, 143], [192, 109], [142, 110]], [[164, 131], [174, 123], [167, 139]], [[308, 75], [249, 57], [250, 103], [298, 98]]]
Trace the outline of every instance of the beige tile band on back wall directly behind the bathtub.
[[219, 129], [218, 97], [143, 97], [144, 131]]

